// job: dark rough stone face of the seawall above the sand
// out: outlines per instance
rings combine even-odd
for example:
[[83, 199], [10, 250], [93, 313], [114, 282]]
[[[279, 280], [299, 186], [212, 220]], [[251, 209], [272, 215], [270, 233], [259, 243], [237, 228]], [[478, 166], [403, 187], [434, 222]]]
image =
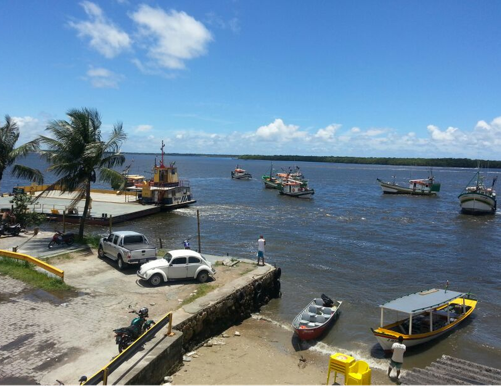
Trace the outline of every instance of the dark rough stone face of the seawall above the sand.
[[217, 303], [204, 307], [193, 316], [174, 326], [183, 332], [183, 348], [190, 351], [205, 340], [221, 334], [268, 303], [279, 297], [280, 268], [275, 268], [261, 277], [256, 277]]

